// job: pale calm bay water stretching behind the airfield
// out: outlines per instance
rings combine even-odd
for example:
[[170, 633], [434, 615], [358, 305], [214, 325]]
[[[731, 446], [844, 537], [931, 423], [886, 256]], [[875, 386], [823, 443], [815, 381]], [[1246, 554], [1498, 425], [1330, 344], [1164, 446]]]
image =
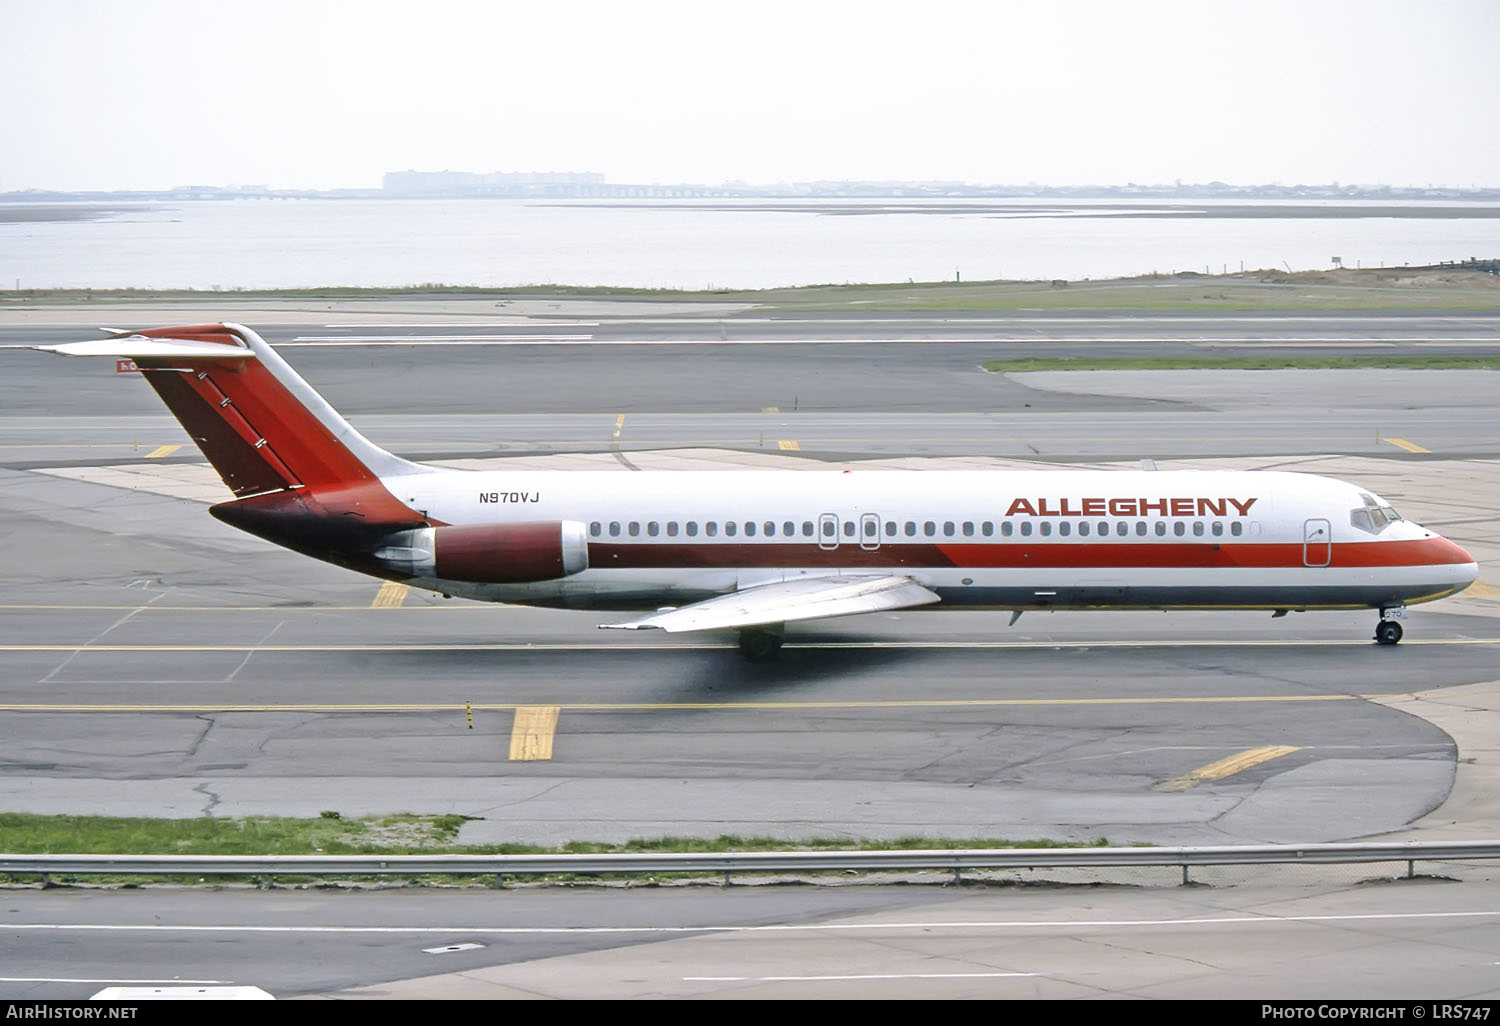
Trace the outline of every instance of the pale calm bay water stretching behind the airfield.
[[[1150, 206], [1158, 206], [1154, 201]], [[1500, 213], [1306, 216], [1320, 204], [1174, 201], [222, 200], [12, 220], [0, 288], [621, 285], [1116, 278], [1432, 264], [1500, 256]], [[1461, 204], [1437, 204], [1443, 208]], [[1336, 204], [1348, 213], [1359, 204]], [[12, 207], [10, 210], [24, 210]], [[1208, 210], [1210, 214], [1198, 216]], [[1233, 212], [1233, 213], [1232, 213]], [[1138, 212], [1136, 212], [1138, 213]], [[1432, 213], [1434, 216], [1420, 216]]]

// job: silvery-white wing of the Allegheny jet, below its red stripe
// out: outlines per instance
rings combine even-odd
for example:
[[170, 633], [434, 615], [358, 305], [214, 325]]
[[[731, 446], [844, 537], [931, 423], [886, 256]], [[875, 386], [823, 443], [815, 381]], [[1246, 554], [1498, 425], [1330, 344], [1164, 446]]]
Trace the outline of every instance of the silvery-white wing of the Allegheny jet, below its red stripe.
[[600, 624], [600, 627], [666, 632], [756, 627], [879, 609], [906, 609], [934, 602], [939, 602], [938, 596], [910, 578], [798, 578], [796, 580], [754, 585], [728, 596], [705, 598], [692, 606], [668, 609], [624, 624]]

